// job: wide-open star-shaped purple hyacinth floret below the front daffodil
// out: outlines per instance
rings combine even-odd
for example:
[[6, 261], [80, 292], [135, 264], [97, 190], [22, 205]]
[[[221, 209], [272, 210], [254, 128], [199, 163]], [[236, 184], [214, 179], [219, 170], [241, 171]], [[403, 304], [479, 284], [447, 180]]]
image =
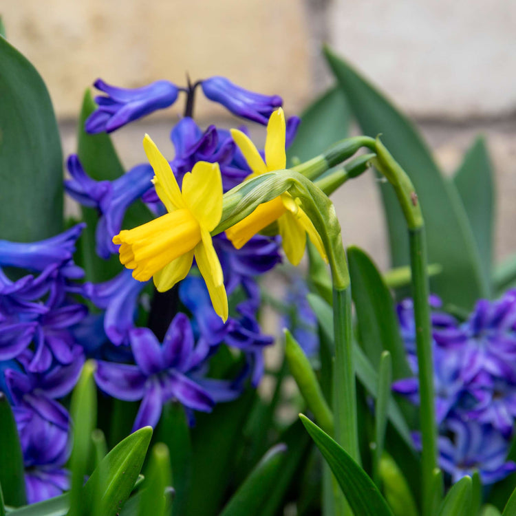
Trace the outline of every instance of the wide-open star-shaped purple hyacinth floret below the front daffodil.
[[98, 361], [95, 379], [110, 396], [142, 400], [133, 430], [155, 427], [162, 406], [169, 400], [178, 400], [190, 409], [211, 411], [215, 400], [190, 377], [206, 355], [195, 353], [193, 332], [185, 314], [174, 317], [162, 344], [148, 328], [133, 328], [129, 341], [136, 365]]

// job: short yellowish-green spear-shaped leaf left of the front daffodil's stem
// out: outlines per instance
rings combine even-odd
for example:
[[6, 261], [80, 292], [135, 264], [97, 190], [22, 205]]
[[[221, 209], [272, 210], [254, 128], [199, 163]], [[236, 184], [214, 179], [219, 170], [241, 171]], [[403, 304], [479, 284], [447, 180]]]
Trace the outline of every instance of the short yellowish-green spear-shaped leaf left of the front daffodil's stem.
[[333, 432], [333, 414], [328, 406], [315, 372], [306, 358], [305, 352], [288, 330], [285, 331], [285, 356], [301, 396], [314, 413], [316, 421], [327, 433]]

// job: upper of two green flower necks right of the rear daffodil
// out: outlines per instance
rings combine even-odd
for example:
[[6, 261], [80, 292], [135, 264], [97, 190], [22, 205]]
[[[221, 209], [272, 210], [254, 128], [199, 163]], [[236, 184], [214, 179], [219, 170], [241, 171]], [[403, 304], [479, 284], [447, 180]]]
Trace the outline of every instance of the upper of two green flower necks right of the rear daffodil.
[[299, 172], [305, 178], [314, 180], [319, 178], [325, 171], [341, 164], [347, 158], [351, 158], [358, 149], [367, 147], [374, 150], [376, 142], [374, 138], [369, 136], [355, 136], [354, 138], [345, 138], [340, 142], [334, 143], [321, 155], [308, 160], [307, 162], [293, 166], [291, 170]]

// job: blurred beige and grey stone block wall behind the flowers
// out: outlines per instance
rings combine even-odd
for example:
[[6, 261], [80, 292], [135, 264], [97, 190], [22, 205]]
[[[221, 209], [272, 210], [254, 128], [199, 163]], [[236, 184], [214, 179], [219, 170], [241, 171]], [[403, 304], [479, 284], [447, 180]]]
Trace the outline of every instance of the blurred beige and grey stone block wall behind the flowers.
[[[319, 52], [330, 43], [415, 120], [446, 171], [484, 133], [497, 180], [496, 256], [516, 251], [515, 1], [4, 0], [0, 13], [8, 39], [50, 89], [65, 152], [75, 149], [84, 89], [99, 76], [136, 87], [158, 78], [184, 83], [186, 72], [194, 80], [221, 74], [281, 94], [294, 113], [331, 83]], [[144, 160], [144, 132], [166, 149], [174, 109], [116, 133], [127, 166]], [[201, 125], [213, 117], [235, 124], [208, 103], [196, 114]], [[387, 266], [372, 175], [335, 203], [345, 243]]]

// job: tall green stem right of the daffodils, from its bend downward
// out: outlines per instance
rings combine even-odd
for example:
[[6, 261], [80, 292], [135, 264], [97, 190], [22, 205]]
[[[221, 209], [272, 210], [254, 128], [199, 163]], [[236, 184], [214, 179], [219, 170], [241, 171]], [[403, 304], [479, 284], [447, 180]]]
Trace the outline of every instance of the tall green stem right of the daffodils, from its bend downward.
[[409, 228], [410, 265], [413, 289], [414, 320], [420, 391], [420, 427], [422, 439], [423, 515], [431, 514], [437, 468], [437, 424], [434, 410], [433, 356], [428, 304], [429, 281], [424, 222], [418, 196], [407, 173], [394, 160], [380, 140], [376, 141], [378, 158], [372, 160], [394, 186]]

